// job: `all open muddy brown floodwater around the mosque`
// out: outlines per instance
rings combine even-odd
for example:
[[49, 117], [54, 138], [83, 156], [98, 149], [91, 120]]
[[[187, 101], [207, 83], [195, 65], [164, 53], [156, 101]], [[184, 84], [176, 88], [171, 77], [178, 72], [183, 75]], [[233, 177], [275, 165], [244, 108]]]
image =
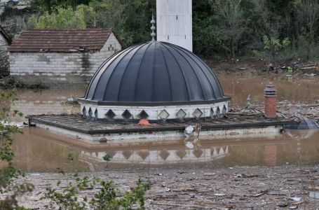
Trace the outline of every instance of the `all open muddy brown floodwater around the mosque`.
[[[264, 87], [276, 85], [279, 101], [315, 103], [319, 99], [318, 78], [287, 76], [222, 76], [225, 94], [231, 106], [244, 106], [250, 94], [252, 104], [262, 104]], [[79, 113], [78, 104], [65, 103], [82, 97], [85, 90], [20, 90], [14, 106], [25, 115]], [[229, 139], [160, 140], [152, 143], [90, 145], [51, 134], [36, 127], [25, 127], [25, 134], [15, 136], [15, 165], [24, 172], [99, 172], [107, 167], [171, 167], [205, 164], [214, 168], [235, 166], [308, 165], [319, 163], [319, 131], [287, 131], [274, 137]], [[111, 157], [106, 164], [103, 157]], [[72, 157], [72, 158], [68, 158]], [[73, 160], [69, 160], [73, 159]]]

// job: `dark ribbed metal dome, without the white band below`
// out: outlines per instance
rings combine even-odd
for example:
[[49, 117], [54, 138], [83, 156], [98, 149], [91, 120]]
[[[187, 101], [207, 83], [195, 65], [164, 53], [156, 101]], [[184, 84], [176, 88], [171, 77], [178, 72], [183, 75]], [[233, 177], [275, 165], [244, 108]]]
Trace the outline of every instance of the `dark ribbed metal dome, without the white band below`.
[[229, 101], [215, 74], [196, 55], [170, 43], [130, 46], [107, 59], [82, 102], [103, 105], [208, 104]]

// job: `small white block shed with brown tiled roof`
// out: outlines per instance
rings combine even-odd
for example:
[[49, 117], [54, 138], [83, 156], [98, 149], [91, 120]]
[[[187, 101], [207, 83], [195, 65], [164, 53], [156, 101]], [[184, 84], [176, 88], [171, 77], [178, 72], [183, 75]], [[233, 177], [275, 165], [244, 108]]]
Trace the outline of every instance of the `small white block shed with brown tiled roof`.
[[8, 48], [10, 74], [28, 84], [78, 87], [121, 49], [111, 29], [27, 30]]

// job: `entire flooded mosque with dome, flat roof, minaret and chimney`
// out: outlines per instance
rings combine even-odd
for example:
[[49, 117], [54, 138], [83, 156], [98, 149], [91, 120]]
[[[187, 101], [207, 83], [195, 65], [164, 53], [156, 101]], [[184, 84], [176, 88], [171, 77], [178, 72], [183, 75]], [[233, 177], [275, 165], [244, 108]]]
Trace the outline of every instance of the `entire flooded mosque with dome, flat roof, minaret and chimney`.
[[[226, 118], [226, 96], [210, 67], [192, 51], [192, 1], [156, 1], [151, 41], [132, 45], [97, 69], [80, 116], [29, 116], [30, 123], [89, 142], [201, 135], [278, 133], [285, 119]], [[269, 89], [270, 88], [270, 89]], [[265, 116], [276, 118], [276, 89], [265, 92]], [[270, 91], [269, 91], [270, 90]], [[140, 122], [140, 123], [139, 123]]]

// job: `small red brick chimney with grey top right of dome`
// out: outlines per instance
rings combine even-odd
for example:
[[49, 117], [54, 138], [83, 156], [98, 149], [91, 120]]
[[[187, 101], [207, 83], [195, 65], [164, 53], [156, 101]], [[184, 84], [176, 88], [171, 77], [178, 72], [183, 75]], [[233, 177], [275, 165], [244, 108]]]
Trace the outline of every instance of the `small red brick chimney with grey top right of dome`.
[[277, 90], [274, 85], [265, 88], [265, 117], [276, 118], [277, 116]]

